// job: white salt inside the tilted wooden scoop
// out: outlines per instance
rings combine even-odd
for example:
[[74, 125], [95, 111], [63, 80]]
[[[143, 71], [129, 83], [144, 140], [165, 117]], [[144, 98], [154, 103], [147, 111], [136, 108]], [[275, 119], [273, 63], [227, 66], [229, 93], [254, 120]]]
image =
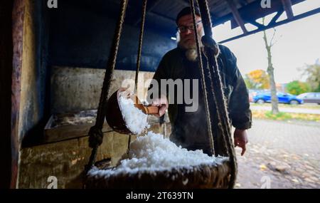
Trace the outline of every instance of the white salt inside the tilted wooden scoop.
[[133, 100], [120, 95], [119, 105], [124, 122], [132, 133], [140, 134], [146, 128], [150, 127], [146, 121], [147, 115], [144, 114], [142, 110], [134, 107]]

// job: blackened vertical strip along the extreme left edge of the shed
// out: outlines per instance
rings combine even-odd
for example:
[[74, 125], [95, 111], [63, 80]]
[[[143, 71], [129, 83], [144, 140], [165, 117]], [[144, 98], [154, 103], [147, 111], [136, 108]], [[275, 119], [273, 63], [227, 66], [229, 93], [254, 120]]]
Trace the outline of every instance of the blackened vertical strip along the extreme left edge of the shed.
[[11, 75], [13, 1], [0, 1], [0, 189], [11, 182]]

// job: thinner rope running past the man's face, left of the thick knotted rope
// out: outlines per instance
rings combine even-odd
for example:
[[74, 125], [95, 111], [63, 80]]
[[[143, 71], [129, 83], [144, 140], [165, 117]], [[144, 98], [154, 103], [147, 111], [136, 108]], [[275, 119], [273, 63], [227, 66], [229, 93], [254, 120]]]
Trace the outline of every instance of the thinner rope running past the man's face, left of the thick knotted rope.
[[206, 115], [207, 115], [207, 125], [208, 125], [208, 133], [209, 133], [209, 142], [210, 142], [210, 150], [211, 154], [214, 153], [214, 143], [213, 143], [213, 132], [212, 132], [212, 123], [210, 119], [210, 110], [209, 110], [209, 105], [208, 105], [208, 90], [206, 88], [206, 80], [205, 80], [205, 74], [203, 71], [203, 63], [202, 63], [202, 56], [201, 56], [201, 49], [200, 49], [200, 43], [199, 43], [199, 36], [198, 36], [198, 31], [197, 31], [197, 26], [196, 26], [196, 9], [194, 6], [194, 1], [190, 0], [190, 5], [191, 5], [191, 11], [192, 11], [192, 17], [193, 17], [193, 29], [194, 33], [196, 35], [196, 47], [198, 51], [198, 63], [199, 63], [199, 68], [201, 71], [201, 80], [202, 80], [202, 88], [203, 88], [203, 97], [204, 97], [204, 102], [205, 102], [205, 110], [206, 110]]

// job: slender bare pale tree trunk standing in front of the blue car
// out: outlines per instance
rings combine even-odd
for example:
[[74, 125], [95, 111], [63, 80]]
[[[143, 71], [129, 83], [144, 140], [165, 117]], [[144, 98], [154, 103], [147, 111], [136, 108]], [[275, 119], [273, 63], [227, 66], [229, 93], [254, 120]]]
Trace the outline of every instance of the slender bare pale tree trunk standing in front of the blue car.
[[[265, 18], [262, 18], [262, 24], [265, 25]], [[274, 28], [273, 28], [274, 29]], [[278, 97], [277, 97], [277, 88], [275, 85], [274, 81], [274, 67], [272, 65], [272, 56], [271, 56], [271, 48], [274, 46], [274, 35], [276, 33], [276, 30], [274, 29], [273, 36], [268, 42], [267, 40], [267, 33], [266, 31], [263, 31], [263, 41], [265, 41], [265, 48], [267, 50], [267, 59], [268, 59], [268, 68], [267, 68], [267, 73], [270, 77], [270, 92], [271, 92], [271, 104], [272, 104], [272, 114], [277, 114], [279, 113], [279, 108], [278, 108]]]

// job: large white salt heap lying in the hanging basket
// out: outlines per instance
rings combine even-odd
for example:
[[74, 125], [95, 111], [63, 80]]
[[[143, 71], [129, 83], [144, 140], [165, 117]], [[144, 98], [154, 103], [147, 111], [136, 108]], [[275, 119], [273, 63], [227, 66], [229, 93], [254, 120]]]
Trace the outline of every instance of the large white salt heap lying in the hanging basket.
[[173, 167], [191, 168], [201, 164], [215, 165], [223, 162], [226, 157], [210, 157], [202, 150], [188, 151], [163, 135], [148, 132], [137, 137], [130, 145], [129, 158], [122, 160], [113, 170], [97, 170], [92, 168], [88, 175], [110, 177], [119, 173], [155, 172], [171, 170]]

